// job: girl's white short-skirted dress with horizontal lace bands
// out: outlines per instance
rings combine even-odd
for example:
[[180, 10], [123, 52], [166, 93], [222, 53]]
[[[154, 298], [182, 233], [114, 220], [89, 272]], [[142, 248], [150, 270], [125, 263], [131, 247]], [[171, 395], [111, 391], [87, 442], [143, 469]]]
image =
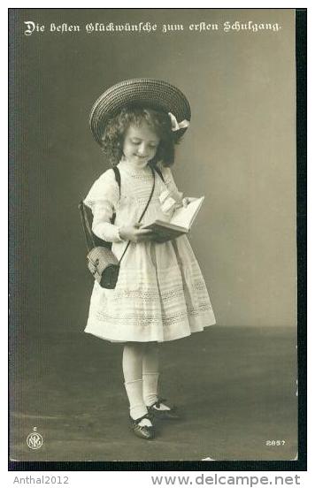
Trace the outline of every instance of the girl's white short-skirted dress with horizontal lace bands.
[[[112, 170], [91, 187], [85, 203], [93, 211], [93, 232], [112, 241], [119, 258], [127, 242], [119, 226], [135, 223], [148, 202], [153, 184], [149, 166], [134, 169], [120, 161], [121, 194]], [[169, 168], [160, 166], [165, 183], [155, 175], [156, 186], [142, 223], [161, 217], [159, 195], [179, 191]], [[110, 223], [116, 211], [115, 225]], [[112, 342], [164, 342], [203, 331], [215, 324], [211, 301], [188, 237], [165, 243], [131, 242], [124, 255], [115, 289], [95, 281], [85, 332]]]

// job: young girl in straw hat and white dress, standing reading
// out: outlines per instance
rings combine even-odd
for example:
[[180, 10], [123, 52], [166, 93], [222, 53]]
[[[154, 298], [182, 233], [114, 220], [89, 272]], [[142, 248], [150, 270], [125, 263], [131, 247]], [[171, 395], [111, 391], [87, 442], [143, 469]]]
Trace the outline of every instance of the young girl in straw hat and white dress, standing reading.
[[183, 199], [170, 169], [174, 144], [189, 119], [185, 95], [165, 81], [151, 79], [125, 80], [109, 88], [90, 115], [106, 163], [117, 165], [121, 179], [119, 188], [109, 169], [88, 192], [85, 203], [93, 212], [92, 229], [97, 237], [112, 242], [118, 258], [129, 240], [130, 244], [115, 289], [95, 282], [85, 332], [124, 343], [122, 368], [131, 428], [145, 439], [154, 437], [157, 417], [178, 418], [175, 409], [158, 397], [157, 344], [215, 324], [188, 237], [158, 243], [154, 233], [142, 228], [191, 201]]

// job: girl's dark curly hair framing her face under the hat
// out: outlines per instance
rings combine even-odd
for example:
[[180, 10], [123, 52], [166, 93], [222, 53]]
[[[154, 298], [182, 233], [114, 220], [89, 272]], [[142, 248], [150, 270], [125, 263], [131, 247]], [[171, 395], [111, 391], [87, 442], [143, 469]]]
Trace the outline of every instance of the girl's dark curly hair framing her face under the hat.
[[164, 166], [171, 166], [174, 162], [174, 146], [179, 142], [173, 137], [171, 119], [163, 111], [156, 111], [145, 107], [126, 107], [119, 114], [111, 118], [105, 126], [102, 138], [102, 149], [107, 161], [116, 166], [123, 156], [123, 144], [127, 129], [132, 124], [140, 126], [145, 120], [152, 130], [157, 133], [160, 142], [156, 155], [150, 164], [161, 162]]

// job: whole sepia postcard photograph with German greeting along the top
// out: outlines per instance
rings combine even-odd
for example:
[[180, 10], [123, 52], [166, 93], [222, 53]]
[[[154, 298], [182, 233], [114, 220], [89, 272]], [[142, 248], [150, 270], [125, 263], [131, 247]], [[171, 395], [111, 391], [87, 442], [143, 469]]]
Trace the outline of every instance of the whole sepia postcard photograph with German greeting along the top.
[[295, 469], [296, 10], [9, 30], [12, 469]]

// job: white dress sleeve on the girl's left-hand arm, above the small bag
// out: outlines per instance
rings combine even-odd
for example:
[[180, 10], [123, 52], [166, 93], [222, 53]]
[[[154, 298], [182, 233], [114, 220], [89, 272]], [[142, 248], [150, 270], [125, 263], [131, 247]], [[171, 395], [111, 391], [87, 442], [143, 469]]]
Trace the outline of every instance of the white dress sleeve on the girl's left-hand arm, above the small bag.
[[93, 233], [108, 242], [121, 241], [118, 225], [111, 224], [112, 214], [119, 203], [119, 186], [112, 170], [107, 170], [96, 179], [84, 203], [93, 213]]

